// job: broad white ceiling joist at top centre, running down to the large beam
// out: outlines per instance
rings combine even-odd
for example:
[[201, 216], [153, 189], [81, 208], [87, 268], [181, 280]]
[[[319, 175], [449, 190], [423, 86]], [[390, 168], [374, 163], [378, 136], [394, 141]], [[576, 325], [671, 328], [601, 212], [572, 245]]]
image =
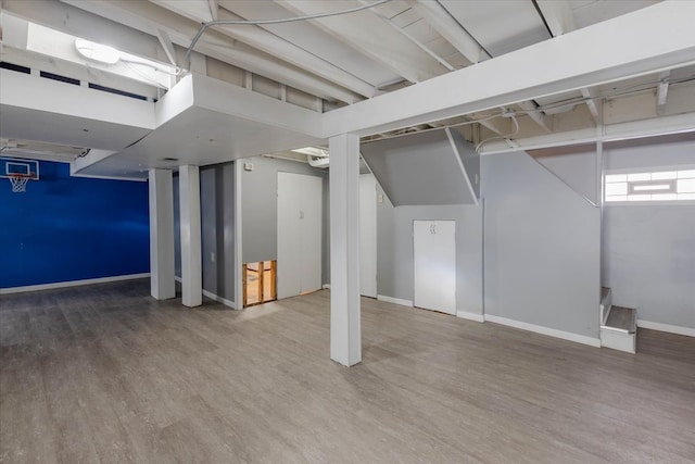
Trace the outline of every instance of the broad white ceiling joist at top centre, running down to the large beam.
[[[321, 14], [336, 11], [341, 7], [358, 5], [354, 2], [306, 0], [282, 0], [278, 3], [300, 15]], [[393, 28], [383, 27], [381, 18], [369, 11], [313, 20], [313, 23], [410, 83], [427, 80], [446, 72], [444, 66], [427, 52], [415, 47], [408, 38]], [[362, 34], [361, 30], [368, 30], [369, 34]]]

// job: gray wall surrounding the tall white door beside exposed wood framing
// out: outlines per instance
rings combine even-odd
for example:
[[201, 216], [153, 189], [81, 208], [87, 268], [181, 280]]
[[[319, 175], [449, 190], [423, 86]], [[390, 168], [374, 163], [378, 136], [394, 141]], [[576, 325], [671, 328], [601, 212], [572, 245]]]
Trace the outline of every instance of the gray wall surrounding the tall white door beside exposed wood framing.
[[324, 178], [324, 230], [323, 230], [323, 269], [324, 284], [330, 279], [328, 241], [328, 171], [312, 167], [306, 163], [254, 156], [240, 160], [253, 164], [253, 171], [241, 173], [242, 201], [242, 256], [244, 263], [277, 259], [277, 190], [278, 172], [306, 174]]

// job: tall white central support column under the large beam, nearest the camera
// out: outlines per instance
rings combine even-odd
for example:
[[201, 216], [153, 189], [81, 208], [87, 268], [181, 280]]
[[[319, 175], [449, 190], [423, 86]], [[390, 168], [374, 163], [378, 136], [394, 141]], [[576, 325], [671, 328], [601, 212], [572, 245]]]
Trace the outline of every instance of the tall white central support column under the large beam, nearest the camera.
[[343, 134], [330, 151], [330, 358], [362, 361], [359, 323], [359, 137]]

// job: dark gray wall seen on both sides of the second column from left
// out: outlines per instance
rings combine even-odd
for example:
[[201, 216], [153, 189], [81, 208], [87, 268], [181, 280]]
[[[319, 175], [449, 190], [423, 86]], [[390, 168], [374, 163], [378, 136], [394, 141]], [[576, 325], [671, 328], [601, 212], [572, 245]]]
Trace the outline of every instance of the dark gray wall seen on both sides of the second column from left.
[[[235, 300], [235, 166], [200, 170], [203, 289]], [[181, 275], [178, 177], [174, 178], [175, 272]], [[214, 259], [213, 259], [214, 254]]]

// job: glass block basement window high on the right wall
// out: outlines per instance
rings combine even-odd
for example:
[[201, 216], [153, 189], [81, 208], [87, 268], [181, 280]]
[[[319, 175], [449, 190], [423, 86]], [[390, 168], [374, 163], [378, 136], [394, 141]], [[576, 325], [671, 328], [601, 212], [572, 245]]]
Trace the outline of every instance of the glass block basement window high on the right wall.
[[695, 170], [607, 174], [606, 202], [695, 200]]

